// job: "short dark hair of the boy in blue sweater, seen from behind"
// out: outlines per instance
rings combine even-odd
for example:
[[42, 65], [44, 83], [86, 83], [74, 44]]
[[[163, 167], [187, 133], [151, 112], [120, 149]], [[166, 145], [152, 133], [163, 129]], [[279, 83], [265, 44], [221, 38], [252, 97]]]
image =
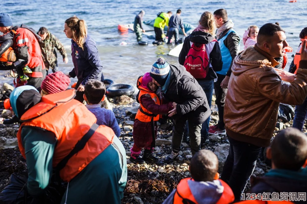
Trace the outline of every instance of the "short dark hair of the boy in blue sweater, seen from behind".
[[106, 86], [101, 81], [90, 79], [84, 86], [84, 94], [88, 103], [98, 104], [106, 94]]

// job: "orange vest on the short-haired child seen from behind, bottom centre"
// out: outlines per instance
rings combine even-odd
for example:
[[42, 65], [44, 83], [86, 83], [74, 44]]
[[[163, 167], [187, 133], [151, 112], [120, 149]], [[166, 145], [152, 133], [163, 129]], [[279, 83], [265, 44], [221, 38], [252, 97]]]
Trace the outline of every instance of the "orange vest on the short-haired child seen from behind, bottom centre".
[[[198, 204], [188, 185], [188, 180], [190, 179], [191, 178], [185, 178], [179, 182], [174, 195], [173, 204], [182, 204], [184, 200], [189, 204]], [[219, 179], [219, 181], [224, 187], [224, 191], [216, 204], [227, 204], [233, 202], [235, 200], [235, 196], [233, 195], [231, 188], [223, 180]]]

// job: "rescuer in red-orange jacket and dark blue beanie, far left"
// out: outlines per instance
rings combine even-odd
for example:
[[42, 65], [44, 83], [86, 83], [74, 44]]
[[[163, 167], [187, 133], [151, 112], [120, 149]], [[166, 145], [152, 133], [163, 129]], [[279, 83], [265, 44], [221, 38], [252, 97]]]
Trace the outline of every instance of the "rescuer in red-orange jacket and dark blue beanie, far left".
[[38, 44], [41, 37], [24, 24], [13, 27], [12, 20], [6, 13], [0, 13], [0, 32], [5, 34], [1, 36], [0, 43], [7, 39], [13, 40], [13, 49], [17, 58], [13, 65], [0, 64], [0, 70], [17, 71], [15, 87], [27, 84], [39, 90], [46, 75], [41, 48]]

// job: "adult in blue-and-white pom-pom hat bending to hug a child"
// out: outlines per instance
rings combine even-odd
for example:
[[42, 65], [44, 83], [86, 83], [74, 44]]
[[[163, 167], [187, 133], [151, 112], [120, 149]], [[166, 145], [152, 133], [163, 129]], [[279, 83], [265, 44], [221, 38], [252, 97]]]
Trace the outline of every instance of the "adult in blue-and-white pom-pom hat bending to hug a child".
[[157, 95], [162, 94], [167, 101], [174, 102], [174, 109], [169, 112], [169, 116], [173, 116], [174, 123], [172, 153], [165, 158], [165, 161], [170, 163], [177, 157], [186, 121], [194, 155], [200, 150], [201, 124], [211, 114], [204, 90], [184, 66], [169, 65], [163, 58], [159, 58], [153, 64], [150, 76], [159, 86]]

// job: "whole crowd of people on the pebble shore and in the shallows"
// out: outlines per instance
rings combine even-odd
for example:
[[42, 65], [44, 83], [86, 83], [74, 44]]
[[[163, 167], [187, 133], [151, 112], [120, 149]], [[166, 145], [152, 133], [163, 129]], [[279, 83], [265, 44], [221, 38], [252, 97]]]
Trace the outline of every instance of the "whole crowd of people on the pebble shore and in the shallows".
[[[180, 14], [180, 9], [173, 16], [172, 12], [158, 14], [154, 22], [157, 41], [164, 40], [165, 26], [169, 28], [168, 43], [175, 35], [178, 44], [180, 28], [186, 35]], [[138, 41], [145, 32], [144, 15], [141, 11], [135, 17]], [[225, 9], [204, 12], [183, 42], [179, 63], [170, 65], [160, 57], [137, 80], [140, 108], [133, 126], [130, 161], [159, 161], [153, 150], [162, 115], [173, 121], [172, 151], [163, 162], [173, 163], [185, 134], [193, 155], [192, 178], [181, 180], [165, 204], [245, 199], [247, 180], [261, 149], [268, 146], [272, 170], [252, 179], [250, 192], [257, 199], [261, 195], [260, 199], [273, 200], [276, 193], [278, 197], [286, 193], [290, 201], [306, 200], [298, 194], [307, 189], [307, 138], [301, 133], [307, 112], [307, 28], [301, 31], [301, 44], [290, 72], [286, 72], [286, 52], [292, 48], [278, 23], [260, 29], [249, 26], [243, 35], [243, 51], [233, 27]], [[27, 162], [28, 193], [41, 195], [56, 171], [68, 182], [62, 203], [120, 203], [127, 182], [126, 151], [118, 139], [120, 128], [114, 113], [100, 105], [106, 94], [102, 62], [85, 20], [74, 16], [64, 22], [65, 35], [72, 39], [74, 65], [66, 75], [58, 71], [55, 48], [64, 63], [68, 62], [66, 51], [47, 28], [36, 33], [24, 24], [13, 26], [8, 14], [0, 13], [0, 32], [4, 33], [0, 54], [11, 47], [16, 55], [14, 60], [7, 57], [2, 61], [0, 70], [17, 73], [17, 88], [10, 95], [15, 115], [8, 122], [21, 124], [17, 139]], [[49, 69], [53, 73], [46, 76]], [[75, 90], [67, 90], [70, 77], [78, 79]], [[213, 90], [219, 122], [209, 126]], [[296, 105], [293, 128], [281, 131], [271, 143], [279, 103]], [[227, 135], [230, 143], [221, 176], [216, 155], [201, 150], [208, 135]]]

